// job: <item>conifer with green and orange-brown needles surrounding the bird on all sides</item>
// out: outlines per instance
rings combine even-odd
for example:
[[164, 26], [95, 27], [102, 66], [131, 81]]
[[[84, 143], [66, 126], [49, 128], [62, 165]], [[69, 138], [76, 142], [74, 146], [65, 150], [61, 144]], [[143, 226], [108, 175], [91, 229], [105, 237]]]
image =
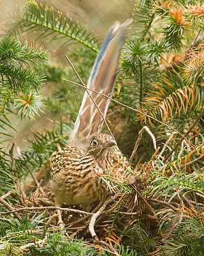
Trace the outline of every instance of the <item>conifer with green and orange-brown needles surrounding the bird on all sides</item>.
[[[157, 150], [143, 133], [131, 157], [129, 182], [103, 177], [106, 184], [115, 182], [111, 189], [119, 188], [120, 197], [96, 221], [101, 242], [88, 239], [90, 214], [84, 219], [76, 212], [64, 214], [70, 223], [66, 237], [56, 228], [53, 209], [23, 211], [50, 206], [53, 198], [38, 183], [26, 197], [21, 185], [31, 173], [47, 168], [57, 145], [66, 145], [84, 93], [64, 81], [78, 83], [71, 68], [50, 64], [47, 46], [38, 40], [75, 42], [78, 51], [70, 47], [70, 56], [84, 81], [99, 40], [61, 10], [33, 0], [27, 2], [15, 33], [1, 36], [0, 255], [204, 255], [204, 5], [136, 1], [133, 19], [113, 93], [115, 100], [133, 109], [112, 102], [108, 122], [119, 133], [124, 153], [129, 153], [126, 145], [133, 150], [133, 134], [144, 125], [154, 134]], [[37, 32], [38, 39], [33, 45], [20, 42], [22, 32]], [[52, 93], [45, 97], [41, 88], [48, 83]], [[18, 134], [13, 116], [33, 122], [43, 115], [54, 122], [52, 129], [33, 131], [27, 147], [15, 152], [9, 132]]]

